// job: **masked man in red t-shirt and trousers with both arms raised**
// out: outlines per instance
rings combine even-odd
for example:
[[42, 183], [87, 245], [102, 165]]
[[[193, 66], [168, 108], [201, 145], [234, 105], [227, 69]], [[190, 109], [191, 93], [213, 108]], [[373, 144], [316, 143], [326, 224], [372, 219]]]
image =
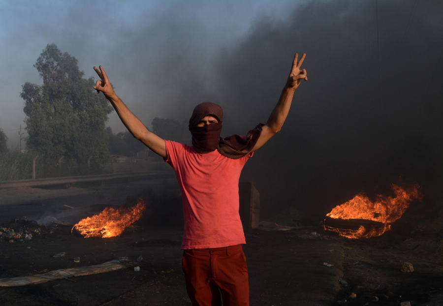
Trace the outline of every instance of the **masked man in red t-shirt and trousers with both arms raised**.
[[103, 92], [129, 132], [162, 156], [176, 173], [183, 199], [182, 241], [186, 289], [194, 306], [249, 306], [249, 283], [242, 245], [238, 183], [253, 152], [279, 132], [294, 91], [308, 80], [305, 54], [295, 54], [285, 88], [266, 124], [247, 136], [220, 137], [223, 111], [215, 103], [195, 107], [189, 122], [192, 147], [163, 140], [149, 131], [115, 94], [101, 66], [94, 89]]

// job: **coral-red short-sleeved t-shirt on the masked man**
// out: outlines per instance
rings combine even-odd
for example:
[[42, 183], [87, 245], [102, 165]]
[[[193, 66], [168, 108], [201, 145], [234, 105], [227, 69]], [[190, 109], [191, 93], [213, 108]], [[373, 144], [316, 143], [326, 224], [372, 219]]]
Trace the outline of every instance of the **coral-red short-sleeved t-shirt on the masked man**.
[[253, 153], [232, 159], [217, 150], [200, 154], [186, 144], [168, 140], [165, 144], [165, 161], [174, 169], [182, 193], [182, 249], [245, 244], [238, 182]]

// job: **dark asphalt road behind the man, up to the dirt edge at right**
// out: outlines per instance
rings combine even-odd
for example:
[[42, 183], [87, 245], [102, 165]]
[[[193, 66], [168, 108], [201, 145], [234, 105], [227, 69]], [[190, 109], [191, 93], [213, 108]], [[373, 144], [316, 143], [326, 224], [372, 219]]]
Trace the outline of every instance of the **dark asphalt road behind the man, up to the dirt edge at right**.
[[[181, 271], [182, 221], [176, 191], [173, 181], [164, 180], [58, 190], [0, 189], [0, 224], [25, 216], [43, 220], [70, 207], [120, 206], [140, 196], [151, 197], [152, 203], [150, 216], [119, 237], [86, 239], [72, 235], [70, 226], [52, 224], [51, 231], [30, 241], [1, 241], [0, 278], [97, 265], [119, 257], [128, 257], [140, 271], [129, 267], [37, 285], [0, 287], [0, 305], [190, 305]], [[251, 305], [337, 305], [344, 270], [343, 239], [321, 228], [262, 227], [246, 230], [246, 237]], [[61, 252], [63, 257], [54, 257]], [[140, 256], [143, 259], [137, 262]], [[74, 262], [75, 257], [80, 261]]]

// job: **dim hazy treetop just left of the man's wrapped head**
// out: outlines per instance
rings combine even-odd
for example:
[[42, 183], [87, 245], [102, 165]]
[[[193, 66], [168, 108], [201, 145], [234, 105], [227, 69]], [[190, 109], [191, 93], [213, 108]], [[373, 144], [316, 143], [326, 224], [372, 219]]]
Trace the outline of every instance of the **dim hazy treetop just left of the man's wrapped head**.
[[188, 122], [186, 121], [180, 123], [174, 119], [156, 117], [151, 124], [154, 134], [163, 139], [181, 143], [190, 142], [190, 131], [188, 129]]

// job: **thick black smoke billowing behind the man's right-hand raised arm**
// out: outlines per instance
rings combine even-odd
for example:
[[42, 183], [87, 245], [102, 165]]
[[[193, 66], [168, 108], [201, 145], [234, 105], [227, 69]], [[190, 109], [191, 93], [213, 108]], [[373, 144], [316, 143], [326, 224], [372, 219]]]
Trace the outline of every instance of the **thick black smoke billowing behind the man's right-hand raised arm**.
[[[311, 2], [263, 18], [219, 61], [219, 101], [235, 128], [265, 122], [293, 53], [307, 53], [283, 131], [244, 171], [262, 211], [324, 215], [360, 191], [402, 180], [442, 200], [443, 3]], [[378, 19], [378, 21], [377, 21]]]

